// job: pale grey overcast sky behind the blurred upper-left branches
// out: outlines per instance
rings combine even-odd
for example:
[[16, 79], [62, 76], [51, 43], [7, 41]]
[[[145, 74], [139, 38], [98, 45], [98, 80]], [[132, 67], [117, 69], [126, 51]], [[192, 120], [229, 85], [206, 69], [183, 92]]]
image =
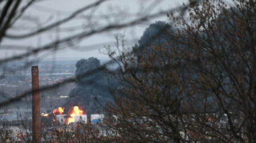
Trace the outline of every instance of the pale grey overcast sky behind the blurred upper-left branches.
[[[34, 6], [28, 8], [26, 11], [26, 16], [36, 21], [35, 23], [28, 23], [27, 21], [18, 21], [15, 27], [19, 28], [19, 31], [7, 31], [10, 34], [22, 34], [27, 33], [28, 31], [33, 31], [39, 28], [42, 25], [50, 24], [56, 20], [60, 20], [70, 15], [73, 11], [77, 10], [80, 7], [85, 5], [89, 5], [93, 1], [85, 1], [85, 0], [45, 0], [39, 3], [36, 3]], [[109, 2], [103, 3], [99, 7], [97, 7], [94, 11], [89, 11], [84, 13], [84, 15], [93, 14], [93, 22], [89, 22], [88, 20], [84, 20], [82, 18], [75, 18], [74, 20], [65, 23], [59, 29], [52, 29], [44, 34], [39, 34], [38, 36], [32, 38], [25, 38], [22, 40], [9, 40], [4, 39], [1, 43], [1, 46], [5, 45], [17, 45], [17, 46], [28, 46], [28, 47], [38, 47], [45, 45], [55, 38], [63, 38], [67, 36], [71, 36], [72, 34], [76, 34], [81, 32], [83, 29], [90, 26], [97, 27], [98, 25], [103, 25], [107, 23], [119, 23], [125, 20], [131, 20], [134, 16], [121, 16], [122, 14], [153, 14], [154, 12], [158, 12], [160, 10], [167, 10], [170, 8], [174, 8], [176, 6], [182, 5], [183, 2], [187, 2], [185, 0], [163, 0], [163, 1], [153, 1], [153, 0], [110, 0]], [[102, 15], [115, 15], [112, 16], [112, 19], [102, 18]], [[167, 16], [163, 16], [160, 18], [152, 19], [147, 23], [143, 23], [137, 25], [135, 27], [123, 28], [119, 30], [113, 30], [109, 32], [104, 32], [101, 34], [95, 34], [93, 36], [86, 37], [82, 41], [79, 42], [79, 45], [82, 48], [77, 49], [76, 47], [68, 47], [66, 49], [61, 49], [57, 52], [48, 51], [46, 53], [40, 54], [38, 57], [42, 60], [61, 60], [61, 59], [81, 59], [81, 58], [89, 58], [89, 57], [97, 57], [99, 59], [108, 58], [107, 55], [99, 52], [104, 51], [105, 45], [113, 45], [114, 44], [114, 35], [115, 34], [125, 34], [127, 38], [126, 46], [133, 46], [142, 36], [144, 30], [155, 21], [162, 20], [167, 21]], [[38, 24], [39, 23], [39, 24]], [[56, 31], [62, 31], [67, 27], [79, 27], [77, 31], [65, 31], [56, 34]], [[1, 59], [12, 57], [13, 55], [18, 55], [20, 53], [24, 53], [27, 50], [10, 50], [5, 49], [0, 51]], [[33, 57], [32, 57], [33, 58]]]

